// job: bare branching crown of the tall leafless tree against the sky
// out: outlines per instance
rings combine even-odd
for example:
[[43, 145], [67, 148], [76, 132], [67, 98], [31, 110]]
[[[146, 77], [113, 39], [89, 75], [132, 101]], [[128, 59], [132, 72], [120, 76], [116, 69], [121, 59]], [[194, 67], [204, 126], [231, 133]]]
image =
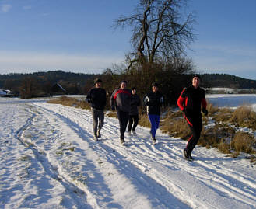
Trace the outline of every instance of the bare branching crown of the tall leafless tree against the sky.
[[182, 14], [186, 0], [139, 0], [131, 16], [121, 16], [114, 26], [132, 27], [133, 52], [128, 57], [129, 67], [139, 62], [170, 60], [185, 54], [195, 36], [192, 24], [195, 17]]

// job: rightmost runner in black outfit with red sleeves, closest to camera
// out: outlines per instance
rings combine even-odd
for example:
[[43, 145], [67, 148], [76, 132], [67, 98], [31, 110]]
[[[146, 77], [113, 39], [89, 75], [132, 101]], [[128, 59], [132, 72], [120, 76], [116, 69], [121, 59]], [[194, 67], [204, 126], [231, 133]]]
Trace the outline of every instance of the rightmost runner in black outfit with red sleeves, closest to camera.
[[181, 96], [177, 100], [177, 105], [184, 112], [184, 118], [187, 120], [188, 126], [191, 129], [191, 137], [188, 139], [187, 147], [184, 148], [184, 158], [193, 160], [191, 152], [198, 143], [202, 131], [202, 112], [205, 116], [208, 114], [206, 110], [205, 90], [200, 88], [199, 75], [195, 75], [192, 79], [192, 85], [184, 88]]

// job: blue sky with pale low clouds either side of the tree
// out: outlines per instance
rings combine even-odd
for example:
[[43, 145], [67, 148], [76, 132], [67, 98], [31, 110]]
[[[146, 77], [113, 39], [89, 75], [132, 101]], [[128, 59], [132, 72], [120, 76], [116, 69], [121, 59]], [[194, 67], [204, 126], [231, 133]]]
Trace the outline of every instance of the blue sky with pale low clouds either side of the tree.
[[[99, 73], [124, 61], [129, 30], [114, 19], [139, 0], [0, 0], [0, 74]], [[198, 18], [191, 57], [202, 73], [256, 79], [256, 0], [188, 0]]]

